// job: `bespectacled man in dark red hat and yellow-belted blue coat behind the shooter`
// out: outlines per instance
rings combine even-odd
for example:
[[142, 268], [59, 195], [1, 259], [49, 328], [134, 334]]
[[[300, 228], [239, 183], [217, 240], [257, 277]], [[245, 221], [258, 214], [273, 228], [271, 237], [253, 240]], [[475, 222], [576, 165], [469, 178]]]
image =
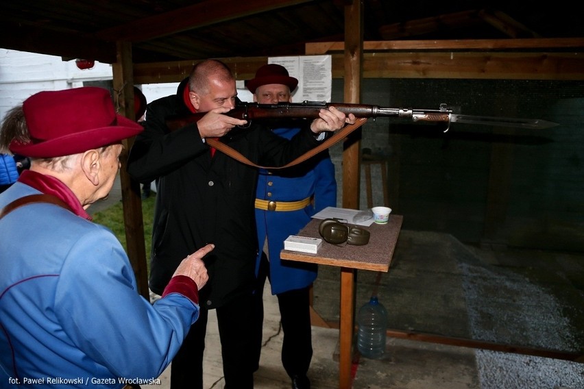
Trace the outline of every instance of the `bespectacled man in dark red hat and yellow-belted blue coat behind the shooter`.
[[[284, 66], [267, 64], [258, 68], [256, 77], [245, 81], [261, 104], [291, 102], [298, 80], [290, 77]], [[298, 131], [294, 122], [280, 121], [272, 129], [282, 138]], [[337, 181], [328, 150], [286, 171], [260, 169], [256, 189], [256, 224], [258, 244], [263, 247], [256, 258], [256, 328], [254, 329], [256, 364], [260, 361], [263, 327], [263, 289], [266, 277], [271, 294], [278, 297], [284, 340], [282, 364], [291, 377], [293, 389], [310, 388], [308, 367], [313, 355], [311, 342], [310, 287], [317, 277], [317, 265], [280, 260], [284, 240], [295, 235], [313, 214], [337, 206]]]

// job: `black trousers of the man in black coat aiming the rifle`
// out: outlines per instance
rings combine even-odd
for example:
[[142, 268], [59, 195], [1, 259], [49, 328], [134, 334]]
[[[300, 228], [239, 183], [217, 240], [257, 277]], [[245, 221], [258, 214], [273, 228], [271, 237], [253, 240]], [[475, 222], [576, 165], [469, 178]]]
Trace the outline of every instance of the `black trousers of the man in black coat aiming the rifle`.
[[[217, 325], [221, 339], [221, 357], [225, 389], [252, 389], [254, 387], [252, 294], [237, 297], [217, 308]], [[203, 351], [209, 311], [201, 308], [199, 318], [188, 331], [180, 350], [172, 360], [171, 389], [203, 388]]]

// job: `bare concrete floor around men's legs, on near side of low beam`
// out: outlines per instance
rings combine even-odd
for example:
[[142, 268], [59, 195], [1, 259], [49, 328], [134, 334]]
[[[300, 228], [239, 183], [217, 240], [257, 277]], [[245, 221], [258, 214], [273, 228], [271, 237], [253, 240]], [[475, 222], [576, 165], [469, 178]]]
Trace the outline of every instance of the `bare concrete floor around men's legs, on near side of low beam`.
[[[289, 378], [280, 363], [282, 332], [278, 321], [278, 302], [268, 293], [269, 290], [265, 290], [264, 347], [260, 368], [255, 373], [254, 387], [289, 389]], [[209, 316], [206, 340], [208, 347], [204, 360], [204, 388], [223, 388], [219, 336], [213, 312]], [[313, 349], [309, 373], [312, 388], [338, 388], [338, 330], [313, 327]], [[143, 388], [169, 388], [170, 368], [160, 376], [160, 385]], [[387, 355], [382, 360], [366, 360], [356, 355], [353, 370], [353, 388], [480, 388], [474, 351], [461, 347], [388, 338]]]

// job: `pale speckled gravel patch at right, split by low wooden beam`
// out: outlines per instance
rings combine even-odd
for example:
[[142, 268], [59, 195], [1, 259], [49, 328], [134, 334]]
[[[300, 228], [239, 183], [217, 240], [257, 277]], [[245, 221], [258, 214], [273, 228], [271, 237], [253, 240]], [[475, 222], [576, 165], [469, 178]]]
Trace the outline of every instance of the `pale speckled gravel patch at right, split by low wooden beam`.
[[[579, 325], [548, 288], [506, 268], [461, 268], [473, 338], [580, 351]], [[481, 389], [584, 389], [584, 364], [578, 362], [476, 350], [476, 364]]]

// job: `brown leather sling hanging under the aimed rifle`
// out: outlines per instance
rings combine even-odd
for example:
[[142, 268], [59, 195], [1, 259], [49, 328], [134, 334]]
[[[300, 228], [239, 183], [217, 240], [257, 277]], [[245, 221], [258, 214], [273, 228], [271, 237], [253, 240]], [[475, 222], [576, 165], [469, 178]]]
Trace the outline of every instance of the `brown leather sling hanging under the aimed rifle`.
[[254, 162], [245, 158], [241, 153], [239, 153], [239, 151], [232, 149], [231, 147], [229, 147], [225, 143], [221, 142], [220, 140], [206, 138], [206, 142], [210, 147], [215, 147], [215, 149], [221, 151], [222, 153], [229, 155], [231, 158], [234, 158], [235, 160], [238, 160], [239, 162], [241, 162], [243, 164], [247, 164], [250, 166], [256, 166], [258, 168], [282, 169], [282, 168], [288, 168], [290, 166], [300, 164], [300, 162], [304, 162], [305, 160], [308, 160], [308, 158], [313, 157], [314, 155], [316, 155], [317, 153], [320, 153], [324, 149], [328, 149], [329, 147], [331, 147], [335, 143], [339, 142], [339, 140], [346, 138], [354, 130], [356, 130], [359, 127], [361, 127], [362, 125], [364, 125], [366, 121], [367, 121], [367, 118], [357, 118], [355, 121], [355, 124], [346, 125], [342, 129], [339, 129], [339, 131], [335, 132], [332, 136], [330, 136], [330, 138], [327, 138], [326, 140], [324, 140], [324, 142], [322, 142], [320, 145], [318, 145], [314, 149], [311, 149], [310, 151], [307, 151], [306, 153], [300, 155], [300, 157], [296, 158], [292, 162], [289, 162], [288, 164], [285, 164], [284, 166], [276, 166], [276, 167], [260, 166], [260, 165], [254, 164]]

